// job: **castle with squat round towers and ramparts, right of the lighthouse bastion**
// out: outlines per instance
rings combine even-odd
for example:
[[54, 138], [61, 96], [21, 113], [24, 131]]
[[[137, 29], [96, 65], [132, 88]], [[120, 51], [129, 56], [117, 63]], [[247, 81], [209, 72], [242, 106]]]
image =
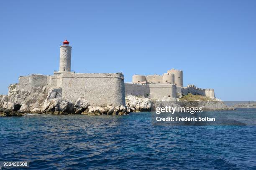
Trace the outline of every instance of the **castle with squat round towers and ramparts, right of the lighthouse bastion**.
[[175, 100], [188, 93], [215, 98], [214, 89], [202, 89], [195, 85], [183, 87], [182, 70], [171, 69], [163, 75], [133, 75], [132, 82], [125, 83], [126, 95], [157, 100]]

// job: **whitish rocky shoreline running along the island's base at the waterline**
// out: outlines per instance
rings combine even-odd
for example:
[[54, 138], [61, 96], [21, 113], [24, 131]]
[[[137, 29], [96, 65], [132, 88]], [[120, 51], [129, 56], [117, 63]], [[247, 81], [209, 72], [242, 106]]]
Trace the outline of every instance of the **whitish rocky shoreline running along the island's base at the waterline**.
[[75, 102], [61, 97], [61, 88], [46, 89], [45, 86], [33, 87], [31, 91], [17, 90], [14, 85], [9, 87], [8, 95], [0, 95], [2, 116], [23, 116], [25, 113], [36, 114], [82, 114], [82, 115], [127, 115], [130, 112], [154, 111], [156, 107], [166, 105], [199, 107], [204, 110], [234, 110], [221, 100], [212, 101], [158, 101], [146, 97], [128, 95], [125, 106], [92, 106], [82, 98]]

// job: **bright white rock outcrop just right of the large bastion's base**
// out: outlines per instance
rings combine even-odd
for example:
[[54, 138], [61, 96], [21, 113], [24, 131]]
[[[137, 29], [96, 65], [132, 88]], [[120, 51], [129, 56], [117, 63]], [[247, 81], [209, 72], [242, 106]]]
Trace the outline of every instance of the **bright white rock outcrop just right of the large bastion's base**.
[[125, 105], [133, 112], [151, 111], [151, 100], [145, 97], [128, 95], [125, 97]]

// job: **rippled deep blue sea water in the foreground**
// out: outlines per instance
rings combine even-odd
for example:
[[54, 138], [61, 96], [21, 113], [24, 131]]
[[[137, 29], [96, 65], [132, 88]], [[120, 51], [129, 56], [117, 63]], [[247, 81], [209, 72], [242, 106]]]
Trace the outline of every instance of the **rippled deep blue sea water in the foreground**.
[[[255, 120], [256, 109], [219, 114]], [[152, 125], [151, 112], [0, 117], [0, 161], [33, 170], [255, 170], [256, 126]]]

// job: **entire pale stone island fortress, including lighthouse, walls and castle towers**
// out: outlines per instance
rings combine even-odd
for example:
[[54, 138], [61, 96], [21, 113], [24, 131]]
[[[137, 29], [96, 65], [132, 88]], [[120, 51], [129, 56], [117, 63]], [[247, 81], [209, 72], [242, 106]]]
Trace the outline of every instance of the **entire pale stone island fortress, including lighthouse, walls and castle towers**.
[[[71, 70], [72, 47], [65, 40], [60, 46], [59, 70], [53, 75], [31, 74], [20, 76], [16, 90], [31, 91], [34, 87], [60, 88], [61, 97], [75, 102], [88, 100], [92, 106], [125, 106], [125, 96], [133, 95], [156, 100], [176, 100], [192, 93], [214, 98], [213, 89], [201, 89], [195, 85], [183, 87], [182, 70], [168, 70], [163, 75], [133, 75], [132, 82], [125, 83], [122, 73], [75, 73]], [[13, 90], [9, 88], [8, 95]]]

